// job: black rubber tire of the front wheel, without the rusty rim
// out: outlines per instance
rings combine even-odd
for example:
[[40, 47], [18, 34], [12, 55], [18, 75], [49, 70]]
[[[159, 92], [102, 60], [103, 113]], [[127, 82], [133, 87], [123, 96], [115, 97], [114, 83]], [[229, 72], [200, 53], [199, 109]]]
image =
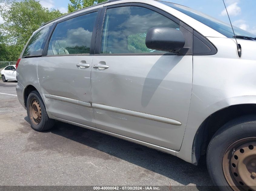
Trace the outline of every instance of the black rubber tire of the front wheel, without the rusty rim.
[[[224, 154], [227, 153], [227, 149], [230, 145], [239, 142], [239, 140], [244, 138], [252, 138], [253, 141], [256, 141], [255, 137], [256, 115], [242, 116], [234, 119], [222, 126], [213, 135], [213, 138], [208, 145], [206, 162], [211, 180], [216, 186], [219, 186], [220, 190], [233, 191], [238, 188], [236, 186], [234, 186], [235, 188], [233, 187], [233, 189], [230, 187], [223, 172], [222, 161], [224, 159]], [[241, 187], [240, 189], [243, 190]]]

